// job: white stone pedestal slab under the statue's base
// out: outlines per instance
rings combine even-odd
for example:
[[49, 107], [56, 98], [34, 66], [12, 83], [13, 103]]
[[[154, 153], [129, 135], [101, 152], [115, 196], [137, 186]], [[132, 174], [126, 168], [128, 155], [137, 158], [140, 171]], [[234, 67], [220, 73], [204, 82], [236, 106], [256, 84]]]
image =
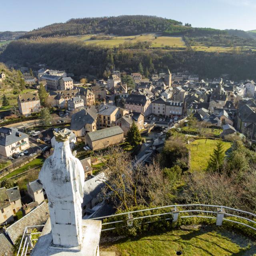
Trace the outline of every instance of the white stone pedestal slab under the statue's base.
[[32, 251], [32, 256], [99, 256], [100, 220], [82, 220], [82, 244], [79, 248], [65, 248], [52, 244], [50, 219]]

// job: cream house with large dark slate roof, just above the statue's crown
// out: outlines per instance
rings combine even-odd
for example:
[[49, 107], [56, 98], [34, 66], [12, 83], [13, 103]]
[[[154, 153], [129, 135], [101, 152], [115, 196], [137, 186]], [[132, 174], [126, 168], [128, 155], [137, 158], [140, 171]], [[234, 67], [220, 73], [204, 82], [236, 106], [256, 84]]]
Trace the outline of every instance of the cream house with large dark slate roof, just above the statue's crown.
[[97, 116], [95, 108], [86, 108], [74, 113], [71, 117], [70, 130], [76, 137], [84, 139], [87, 132], [97, 130]]

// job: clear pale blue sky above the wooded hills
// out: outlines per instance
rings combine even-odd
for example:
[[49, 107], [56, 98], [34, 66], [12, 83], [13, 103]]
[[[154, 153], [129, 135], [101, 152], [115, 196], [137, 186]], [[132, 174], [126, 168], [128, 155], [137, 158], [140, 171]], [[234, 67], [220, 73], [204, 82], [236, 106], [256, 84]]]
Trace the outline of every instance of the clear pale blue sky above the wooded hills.
[[194, 27], [256, 29], [256, 0], [5, 0], [0, 31], [29, 31], [70, 18], [155, 15]]

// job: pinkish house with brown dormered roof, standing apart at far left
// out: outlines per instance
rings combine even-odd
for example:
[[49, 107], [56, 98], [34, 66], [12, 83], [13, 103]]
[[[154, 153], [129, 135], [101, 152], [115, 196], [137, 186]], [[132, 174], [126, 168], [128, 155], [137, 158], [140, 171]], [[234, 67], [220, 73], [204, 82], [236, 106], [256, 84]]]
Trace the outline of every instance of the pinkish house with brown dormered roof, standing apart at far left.
[[18, 108], [20, 114], [28, 116], [33, 112], [39, 112], [41, 105], [37, 91], [34, 93], [24, 93], [18, 96]]

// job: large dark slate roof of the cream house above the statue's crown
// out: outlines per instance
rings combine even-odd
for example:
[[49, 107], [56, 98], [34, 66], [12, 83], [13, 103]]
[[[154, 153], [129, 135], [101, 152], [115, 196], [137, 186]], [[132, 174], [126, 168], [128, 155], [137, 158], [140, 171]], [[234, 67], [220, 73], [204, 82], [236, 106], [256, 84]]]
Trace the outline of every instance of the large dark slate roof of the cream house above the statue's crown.
[[97, 118], [97, 113], [92, 109], [82, 109], [71, 117], [70, 130], [79, 131], [86, 124], [92, 124]]

